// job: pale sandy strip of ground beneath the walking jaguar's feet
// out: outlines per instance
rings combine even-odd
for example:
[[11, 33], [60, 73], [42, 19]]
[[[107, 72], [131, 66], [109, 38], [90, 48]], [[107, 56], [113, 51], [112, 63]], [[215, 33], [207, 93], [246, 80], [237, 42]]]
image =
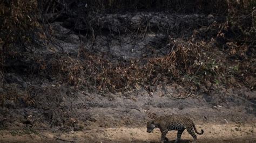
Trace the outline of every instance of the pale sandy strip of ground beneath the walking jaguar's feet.
[[[203, 135], [197, 135], [198, 142], [256, 142], [256, 124], [197, 125], [203, 129]], [[176, 139], [177, 131], [169, 131], [170, 142]], [[49, 133], [35, 131], [24, 134], [23, 131], [0, 131], [0, 142], [159, 142], [160, 131], [146, 132], [146, 127], [139, 128], [95, 128], [92, 130]], [[193, 138], [184, 131], [181, 142], [191, 142]]]

